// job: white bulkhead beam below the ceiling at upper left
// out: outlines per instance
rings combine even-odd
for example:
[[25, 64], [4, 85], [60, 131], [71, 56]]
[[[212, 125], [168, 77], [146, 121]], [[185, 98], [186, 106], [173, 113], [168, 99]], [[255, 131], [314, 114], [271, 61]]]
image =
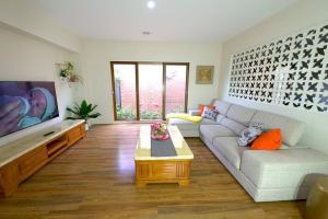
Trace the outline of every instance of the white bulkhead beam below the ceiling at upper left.
[[80, 51], [79, 37], [49, 16], [38, 4], [26, 0], [0, 0], [0, 22], [55, 45]]

